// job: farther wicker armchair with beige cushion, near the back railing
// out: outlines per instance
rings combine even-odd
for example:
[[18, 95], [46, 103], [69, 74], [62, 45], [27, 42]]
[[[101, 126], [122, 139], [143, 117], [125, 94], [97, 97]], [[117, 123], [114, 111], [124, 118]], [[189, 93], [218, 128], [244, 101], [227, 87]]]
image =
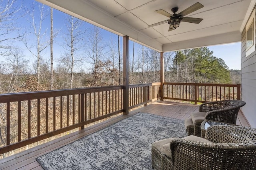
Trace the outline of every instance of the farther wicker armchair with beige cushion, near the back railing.
[[201, 123], [205, 119], [236, 124], [240, 107], [244, 106], [242, 100], [221, 100], [206, 102], [199, 106], [199, 112], [191, 113], [191, 118], [185, 120], [188, 135], [201, 136]]

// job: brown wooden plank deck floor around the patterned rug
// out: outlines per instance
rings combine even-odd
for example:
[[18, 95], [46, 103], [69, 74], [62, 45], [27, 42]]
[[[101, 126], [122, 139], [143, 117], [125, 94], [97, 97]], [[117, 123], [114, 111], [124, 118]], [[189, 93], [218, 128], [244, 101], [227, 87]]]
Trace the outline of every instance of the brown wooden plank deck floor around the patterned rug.
[[[42, 170], [43, 168], [38, 164], [36, 158], [43, 154], [46, 154], [52, 150], [58, 149], [68, 143], [72, 143], [90, 133], [98, 131], [106, 126], [109, 126], [117, 121], [130, 117], [138, 112], [151, 113], [156, 115], [162, 115], [166, 117], [172, 117], [176, 119], [186, 119], [190, 116], [190, 112], [198, 111], [198, 105], [194, 104], [185, 104], [185, 103], [177, 103], [177, 102], [166, 102], [160, 101], [152, 103], [146, 107], [142, 107], [140, 109], [134, 110], [130, 112], [129, 115], [121, 115], [108, 121], [104, 121], [102, 123], [98, 123], [97, 125], [93, 125], [91, 127], [85, 128], [83, 130], [71, 133], [54, 141], [50, 141], [48, 143], [39, 145], [32, 149], [25, 150], [13, 156], [9, 156], [7, 158], [3, 158], [0, 160], [0, 169], [8, 169], [8, 170]], [[239, 112], [238, 125], [249, 126], [243, 114]]]

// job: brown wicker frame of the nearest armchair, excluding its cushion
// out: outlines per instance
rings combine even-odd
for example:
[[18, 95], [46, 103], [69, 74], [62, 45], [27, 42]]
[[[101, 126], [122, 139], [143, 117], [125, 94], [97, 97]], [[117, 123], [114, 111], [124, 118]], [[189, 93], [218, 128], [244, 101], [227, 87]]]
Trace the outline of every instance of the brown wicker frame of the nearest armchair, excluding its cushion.
[[209, 142], [173, 138], [170, 153], [161, 152], [161, 147], [153, 143], [152, 167], [157, 170], [256, 169], [255, 128], [211, 126], [205, 139]]

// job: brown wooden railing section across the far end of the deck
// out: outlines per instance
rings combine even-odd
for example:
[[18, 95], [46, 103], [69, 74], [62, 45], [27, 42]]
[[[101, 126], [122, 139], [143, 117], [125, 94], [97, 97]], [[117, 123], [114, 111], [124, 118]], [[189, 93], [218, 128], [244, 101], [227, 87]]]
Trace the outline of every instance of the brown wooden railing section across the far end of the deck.
[[164, 82], [164, 99], [194, 102], [240, 100], [240, 84]]

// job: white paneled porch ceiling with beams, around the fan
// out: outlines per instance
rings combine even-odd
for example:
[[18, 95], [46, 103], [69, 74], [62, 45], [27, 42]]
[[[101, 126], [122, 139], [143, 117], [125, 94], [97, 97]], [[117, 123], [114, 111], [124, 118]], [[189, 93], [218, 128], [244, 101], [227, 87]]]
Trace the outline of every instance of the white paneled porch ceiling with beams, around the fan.
[[[38, 0], [84, 21], [124, 36], [157, 51], [173, 51], [241, 41], [240, 27], [255, 0]], [[168, 31], [168, 20], [154, 12], [163, 9], [177, 13], [200, 2], [204, 5], [186, 17], [203, 18], [199, 23], [181, 22]], [[244, 24], [244, 23], [243, 23]]]

